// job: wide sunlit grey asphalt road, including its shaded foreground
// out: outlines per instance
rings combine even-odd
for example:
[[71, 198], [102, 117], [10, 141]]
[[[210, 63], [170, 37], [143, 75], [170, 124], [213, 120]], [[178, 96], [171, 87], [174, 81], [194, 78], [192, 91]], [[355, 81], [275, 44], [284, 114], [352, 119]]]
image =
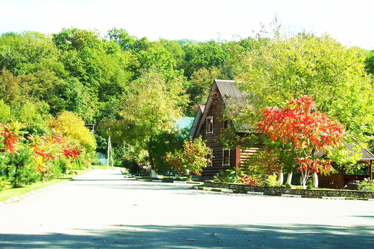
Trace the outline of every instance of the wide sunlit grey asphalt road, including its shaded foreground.
[[95, 169], [0, 207], [0, 248], [374, 248], [374, 202], [205, 192]]

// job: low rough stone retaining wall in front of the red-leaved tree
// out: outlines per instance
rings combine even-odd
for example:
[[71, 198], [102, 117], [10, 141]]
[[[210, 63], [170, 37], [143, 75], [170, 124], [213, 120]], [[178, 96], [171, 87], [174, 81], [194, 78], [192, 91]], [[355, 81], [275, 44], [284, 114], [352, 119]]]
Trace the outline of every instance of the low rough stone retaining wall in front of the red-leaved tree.
[[291, 187], [263, 187], [238, 183], [215, 183], [204, 181], [204, 187], [224, 188], [244, 192], [263, 192], [272, 194], [294, 194], [302, 196], [326, 196], [326, 197], [353, 197], [363, 199], [373, 199], [374, 192], [357, 190], [326, 190], [326, 189], [294, 189]]

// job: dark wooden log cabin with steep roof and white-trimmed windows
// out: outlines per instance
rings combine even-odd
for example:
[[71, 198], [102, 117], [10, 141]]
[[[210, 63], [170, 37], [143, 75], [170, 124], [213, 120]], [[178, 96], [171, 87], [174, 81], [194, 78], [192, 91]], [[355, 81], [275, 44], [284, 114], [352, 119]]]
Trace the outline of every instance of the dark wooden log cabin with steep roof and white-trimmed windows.
[[[234, 83], [233, 80], [213, 81], [206, 105], [205, 107], [199, 106], [190, 130], [190, 137], [202, 136], [203, 140], [207, 141], [206, 146], [211, 149], [211, 164], [203, 168], [202, 171], [202, 177], [205, 179], [213, 178], [220, 170], [226, 171], [226, 169], [242, 166], [249, 156], [263, 146], [260, 143], [247, 148], [241, 144], [235, 149], [229, 149], [220, 142], [219, 138], [227, 128], [234, 128], [237, 136], [255, 133], [255, 130], [249, 125], [238, 124], [228, 118], [235, 113], [227, 112], [236, 109], [237, 106], [251, 105], [246, 94], [239, 91]], [[230, 115], [225, 115], [225, 113]]]

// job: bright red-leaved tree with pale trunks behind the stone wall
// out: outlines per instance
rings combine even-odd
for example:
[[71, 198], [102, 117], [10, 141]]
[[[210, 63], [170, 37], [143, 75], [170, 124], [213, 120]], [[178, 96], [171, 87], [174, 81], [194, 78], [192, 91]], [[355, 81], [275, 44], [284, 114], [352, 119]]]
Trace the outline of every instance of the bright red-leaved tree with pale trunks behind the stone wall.
[[317, 151], [328, 152], [343, 144], [345, 129], [337, 120], [319, 112], [312, 96], [300, 95], [289, 100], [284, 108], [265, 107], [265, 115], [258, 122], [258, 131], [272, 141], [289, 143], [298, 156], [298, 170], [301, 172], [303, 187], [310, 172], [328, 173], [333, 168], [325, 160], [315, 156]]

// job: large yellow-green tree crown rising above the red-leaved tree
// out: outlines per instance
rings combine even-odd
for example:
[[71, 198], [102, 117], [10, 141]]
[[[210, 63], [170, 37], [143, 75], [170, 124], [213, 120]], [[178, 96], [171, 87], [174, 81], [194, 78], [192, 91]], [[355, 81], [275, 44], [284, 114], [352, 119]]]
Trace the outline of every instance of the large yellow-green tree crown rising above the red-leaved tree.
[[281, 105], [291, 97], [309, 94], [318, 108], [346, 125], [347, 133], [363, 138], [373, 133], [373, 91], [364, 70], [365, 55], [328, 35], [297, 34], [276, 38], [249, 51], [245, 71], [237, 78], [255, 93], [260, 106]]

